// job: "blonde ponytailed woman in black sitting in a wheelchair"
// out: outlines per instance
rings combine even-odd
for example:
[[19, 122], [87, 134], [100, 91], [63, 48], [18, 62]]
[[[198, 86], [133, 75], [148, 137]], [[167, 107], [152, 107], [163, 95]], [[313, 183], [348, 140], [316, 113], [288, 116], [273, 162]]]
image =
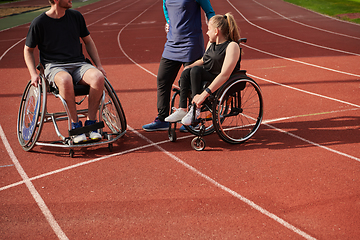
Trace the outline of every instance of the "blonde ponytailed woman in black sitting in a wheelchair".
[[[187, 112], [189, 90], [192, 103], [196, 104], [197, 118], [205, 99], [224, 84], [234, 71], [240, 69], [240, 34], [234, 17], [230, 13], [212, 17], [207, 35], [209, 43], [203, 58], [185, 67], [181, 74], [179, 108], [165, 119], [167, 122], [181, 121], [184, 125], [190, 125], [194, 109], [190, 106]], [[210, 83], [205, 90], [204, 82]]]

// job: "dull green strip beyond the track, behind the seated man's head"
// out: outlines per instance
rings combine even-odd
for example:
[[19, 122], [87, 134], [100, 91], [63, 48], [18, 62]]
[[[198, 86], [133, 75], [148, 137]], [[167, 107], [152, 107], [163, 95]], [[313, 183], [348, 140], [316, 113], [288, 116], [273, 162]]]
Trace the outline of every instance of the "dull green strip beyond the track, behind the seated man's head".
[[[73, 9], [85, 6], [94, 2], [97, 2], [99, 0], [88, 0], [88, 1], [80, 1], [80, 0], [73, 0]], [[3, 3], [4, 1], [0, 0], [0, 3]], [[44, 2], [48, 3], [47, 0], [44, 0]], [[39, 16], [41, 13], [47, 11], [49, 7], [42, 8], [39, 10], [31, 11], [31, 12], [25, 12], [13, 16], [8, 16], [4, 18], [0, 18], [0, 31], [16, 26], [20, 26], [26, 23], [31, 22], [35, 17]]]

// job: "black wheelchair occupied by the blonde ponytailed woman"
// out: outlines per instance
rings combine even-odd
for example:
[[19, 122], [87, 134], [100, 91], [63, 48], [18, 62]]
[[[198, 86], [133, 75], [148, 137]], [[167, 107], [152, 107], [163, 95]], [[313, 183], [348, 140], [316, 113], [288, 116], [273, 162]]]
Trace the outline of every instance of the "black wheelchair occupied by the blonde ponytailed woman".
[[[242, 38], [238, 43], [245, 43]], [[241, 60], [241, 55], [240, 55]], [[203, 82], [203, 89], [209, 83]], [[171, 113], [178, 104], [179, 88], [173, 89]], [[191, 104], [191, 93], [188, 95], [188, 106]], [[196, 107], [195, 105], [193, 107]], [[206, 147], [203, 136], [216, 132], [220, 138], [230, 144], [244, 143], [259, 129], [263, 118], [263, 97], [259, 85], [246, 75], [246, 70], [234, 72], [229, 79], [202, 104], [200, 116], [195, 119], [195, 111], [190, 126], [186, 130], [196, 137], [191, 146], [197, 151]], [[168, 136], [171, 142], [176, 141], [176, 125], [170, 123]]]

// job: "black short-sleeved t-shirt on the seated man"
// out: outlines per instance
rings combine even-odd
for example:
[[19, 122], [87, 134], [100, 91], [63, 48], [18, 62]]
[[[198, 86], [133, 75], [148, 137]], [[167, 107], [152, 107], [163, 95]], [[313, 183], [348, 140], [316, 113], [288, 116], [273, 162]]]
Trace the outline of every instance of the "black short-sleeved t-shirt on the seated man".
[[40, 50], [40, 62], [73, 63], [85, 60], [80, 38], [90, 34], [80, 12], [68, 9], [59, 19], [45, 13], [36, 17], [26, 37], [26, 46]]

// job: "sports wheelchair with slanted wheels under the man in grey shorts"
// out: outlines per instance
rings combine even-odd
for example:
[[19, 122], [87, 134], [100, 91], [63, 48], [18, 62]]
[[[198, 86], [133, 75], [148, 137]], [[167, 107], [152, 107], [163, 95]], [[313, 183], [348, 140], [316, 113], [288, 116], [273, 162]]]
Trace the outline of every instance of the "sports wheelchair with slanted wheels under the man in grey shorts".
[[[70, 112], [66, 101], [60, 96], [57, 88], [49, 86], [48, 81], [45, 79], [41, 64], [38, 65], [37, 69], [40, 71], [41, 84], [34, 87], [31, 85], [31, 81], [29, 81], [21, 97], [17, 119], [17, 137], [21, 147], [25, 151], [32, 150], [35, 145], [68, 148], [70, 157], [74, 157], [74, 148], [78, 147], [107, 144], [109, 150], [112, 151], [113, 142], [126, 133], [127, 125], [124, 110], [109, 80], [105, 77], [104, 91], [98, 110], [99, 121], [93, 125], [72, 130]], [[78, 117], [79, 119], [85, 118], [88, 109], [86, 106], [81, 106], [81, 104], [89, 94], [89, 86], [75, 85], [74, 92], [76, 104], [79, 105], [78, 108], [80, 108], [77, 110]], [[59, 98], [65, 111], [48, 112], [48, 95]], [[77, 99], [79, 99], [79, 101]], [[66, 134], [62, 134], [60, 131], [58, 122], [61, 121], [67, 121], [68, 132]], [[61, 139], [60, 141], [38, 141], [43, 124], [47, 122], [53, 123], [55, 132]], [[66, 126], [66, 124], [64, 125]], [[63, 128], [65, 127], [63, 126]], [[73, 142], [72, 136], [95, 130], [98, 130], [102, 136], [100, 141], [87, 141], [77, 144]]]

